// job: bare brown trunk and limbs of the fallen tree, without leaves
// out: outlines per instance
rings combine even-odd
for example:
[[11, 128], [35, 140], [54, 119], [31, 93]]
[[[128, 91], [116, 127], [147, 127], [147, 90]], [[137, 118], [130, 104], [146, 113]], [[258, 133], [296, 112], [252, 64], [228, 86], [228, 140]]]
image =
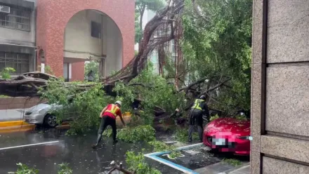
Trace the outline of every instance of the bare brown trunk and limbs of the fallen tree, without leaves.
[[[176, 16], [183, 9], [183, 6], [183, 0], [169, 1], [166, 7], [158, 11], [155, 17], [145, 26], [143, 37], [139, 44], [138, 55], [136, 55], [126, 67], [119, 70], [119, 72], [108, 76], [106, 79], [102, 79], [103, 85], [106, 86], [105, 90], [110, 91], [110, 88], [114, 87], [117, 81], [128, 83], [134, 79], [138, 76], [140, 71], [145, 69], [148, 55], [150, 55], [155, 48], [180, 36], [180, 34], [174, 32], [174, 28], [179, 25], [178, 22], [180, 18], [176, 18]], [[171, 33], [168, 36], [155, 37], [154, 33], [160, 26], [168, 27]], [[44, 88], [48, 85], [47, 82], [49, 79], [58, 78], [41, 72], [29, 72], [12, 80], [0, 79], [0, 95], [8, 95], [11, 97], [34, 96], [37, 95], [39, 88]], [[66, 83], [63, 83], [63, 86], [65, 86], [65, 84]], [[80, 88], [87, 89], [92, 86], [91, 84], [87, 84], [81, 85]]]

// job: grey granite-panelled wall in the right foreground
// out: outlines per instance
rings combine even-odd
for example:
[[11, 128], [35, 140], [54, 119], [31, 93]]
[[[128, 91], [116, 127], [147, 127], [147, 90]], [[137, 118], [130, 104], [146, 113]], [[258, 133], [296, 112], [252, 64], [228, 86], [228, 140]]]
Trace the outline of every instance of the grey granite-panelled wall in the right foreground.
[[251, 173], [309, 173], [309, 1], [254, 0]]

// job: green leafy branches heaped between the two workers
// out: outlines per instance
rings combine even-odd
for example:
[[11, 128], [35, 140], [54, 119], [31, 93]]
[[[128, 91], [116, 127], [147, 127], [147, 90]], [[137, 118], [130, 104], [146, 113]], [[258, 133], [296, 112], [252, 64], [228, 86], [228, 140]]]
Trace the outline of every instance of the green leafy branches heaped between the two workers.
[[124, 107], [131, 105], [134, 98], [140, 98], [143, 106], [142, 118], [147, 124], [152, 123], [155, 107], [161, 107], [171, 113], [176, 108], [182, 109], [186, 106], [185, 95], [177, 93], [172, 83], [154, 74], [151, 62], [147, 69], [140, 72], [128, 84], [117, 83], [114, 91], [117, 92], [119, 99], [124, 101]]

